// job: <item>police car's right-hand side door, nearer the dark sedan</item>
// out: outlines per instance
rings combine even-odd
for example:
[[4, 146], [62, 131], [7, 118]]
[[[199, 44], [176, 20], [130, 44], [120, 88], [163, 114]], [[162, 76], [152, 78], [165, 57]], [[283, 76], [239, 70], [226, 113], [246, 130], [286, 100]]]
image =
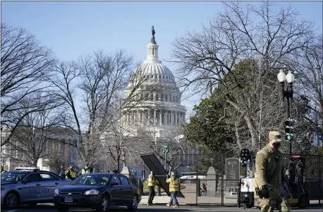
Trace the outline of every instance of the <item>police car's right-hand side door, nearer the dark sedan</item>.
[[53, 199], [54, 197], [54, 190], [59, 185], [59, 177], [51, 175], [50, 173], [39, 173], [40, 177], [40, 186], [41, 195], [39, 199], [46, 200], [46, 199]]

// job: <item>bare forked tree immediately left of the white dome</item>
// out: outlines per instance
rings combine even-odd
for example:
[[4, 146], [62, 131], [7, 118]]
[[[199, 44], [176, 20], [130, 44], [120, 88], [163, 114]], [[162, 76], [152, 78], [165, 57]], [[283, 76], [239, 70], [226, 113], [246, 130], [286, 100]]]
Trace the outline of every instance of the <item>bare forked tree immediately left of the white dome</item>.
[[[102, 157], [100, 137], [113, 124], [113, 106], [133, 68], [133, 58], [124, 51], [106, 55], [83, 56], [78, 63], [59, 63], [56, 77], [49, 80], [69, 105], [66, 126], [79, 137], [75, 148], [83, 166], [93, 166]], [[82, 95], [82, 113], [75, 103], [77, 92]], [[83, 128], [86, 127], [86, 130]]]

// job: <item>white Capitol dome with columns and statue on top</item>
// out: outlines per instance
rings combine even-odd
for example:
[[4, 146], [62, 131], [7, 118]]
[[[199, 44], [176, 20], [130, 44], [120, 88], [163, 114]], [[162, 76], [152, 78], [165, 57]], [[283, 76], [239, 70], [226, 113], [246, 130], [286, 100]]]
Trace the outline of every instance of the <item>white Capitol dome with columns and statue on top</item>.
[[162, 137], [163, 131], [180, 133], [186, 109], [181, 105], [181, 92], [173, 73], [159, 61], [159, 46], [154, 34], [152, 27], [152, 38], [147, 44], [147, 58], [135, 68], [125, 90], [126, 98], [133, 93], [138, 95], [139, 106], [136, 102], [135, 108], [127, 109], [123, 124], [133, 125], [134, 129], [141, 126], [153, 127], [154, 132], [159, 132], [159, 137]]

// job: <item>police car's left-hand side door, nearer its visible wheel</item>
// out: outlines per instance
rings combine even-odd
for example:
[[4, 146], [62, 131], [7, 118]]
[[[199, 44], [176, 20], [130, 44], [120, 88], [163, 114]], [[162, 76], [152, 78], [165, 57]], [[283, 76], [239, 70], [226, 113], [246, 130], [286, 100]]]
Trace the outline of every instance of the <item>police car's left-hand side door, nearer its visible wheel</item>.
[[[28, 182], [26, 182], [28, 181]], [[40, 181], [38, 173], [29, 173], [18, 186], [21, 201], [35, 201], [40, 195]]]

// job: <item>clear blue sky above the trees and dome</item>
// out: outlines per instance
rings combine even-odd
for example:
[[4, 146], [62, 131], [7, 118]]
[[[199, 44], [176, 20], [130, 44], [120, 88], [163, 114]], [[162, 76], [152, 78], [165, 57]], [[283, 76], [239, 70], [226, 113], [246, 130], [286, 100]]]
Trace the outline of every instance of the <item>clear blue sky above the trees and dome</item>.
[[[276, 4], [291, 4], [301, 18], [314, 21], [322, 32], [322, 1]], [[209, 17], [222, 10], [219, 1], [1, 1], [1, 22], [25, 28], [64, 60], [97, 49], [106, 53], [126, 49], [137, 61], [143, 61], [152, 25], [159, 57], [167, 59], [176, 36], [185, 30], [199, 31], [202, 23], [207, 24]], [[188, 101], [184, 105], [188, 111], [193, 106]]]

